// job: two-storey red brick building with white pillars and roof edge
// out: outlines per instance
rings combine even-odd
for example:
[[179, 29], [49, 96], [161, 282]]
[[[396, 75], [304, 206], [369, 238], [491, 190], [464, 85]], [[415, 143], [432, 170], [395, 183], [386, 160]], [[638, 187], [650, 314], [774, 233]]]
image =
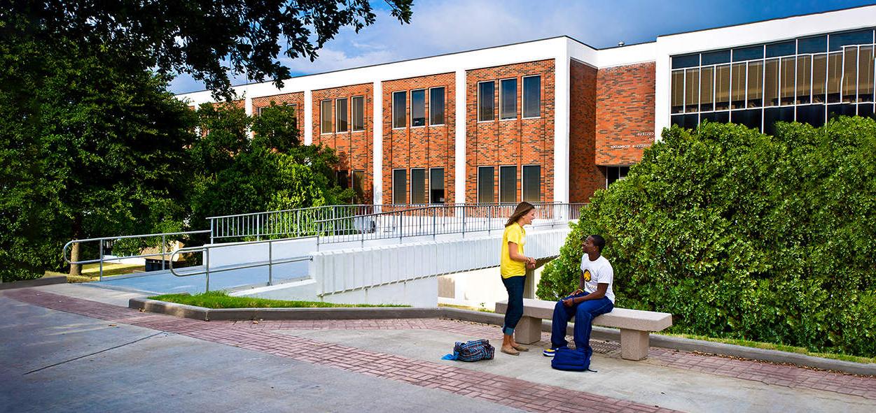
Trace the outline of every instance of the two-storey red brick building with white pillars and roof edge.
[[604, 49], [563, 36], [236, 91], [252, 115], [294, 105], [364, 202], [586, 202], [673, 123], [873, 116], [874, 26], [865, 6]]

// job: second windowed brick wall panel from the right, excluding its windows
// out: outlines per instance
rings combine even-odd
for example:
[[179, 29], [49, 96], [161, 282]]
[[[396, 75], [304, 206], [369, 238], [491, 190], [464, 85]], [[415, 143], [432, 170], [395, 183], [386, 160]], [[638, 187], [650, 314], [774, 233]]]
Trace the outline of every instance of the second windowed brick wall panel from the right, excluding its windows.
[[[383, 82], [383, 193], [392, 203], [392, 170], [405, 169], [411, 200], [411, 168], [444, 168], [444, 201], [454, 202], [456, 159], [456, 74], [442, 73]], [[444, 88], [444, 124], [430, 125], [429, 88]], [[426, 89], [426, 126], [411, 127], [411, 90]], [[392, 128], [392, 92], [406, 91], [406, 126]], [[428, 201], [428, 196], [426, 198]]]

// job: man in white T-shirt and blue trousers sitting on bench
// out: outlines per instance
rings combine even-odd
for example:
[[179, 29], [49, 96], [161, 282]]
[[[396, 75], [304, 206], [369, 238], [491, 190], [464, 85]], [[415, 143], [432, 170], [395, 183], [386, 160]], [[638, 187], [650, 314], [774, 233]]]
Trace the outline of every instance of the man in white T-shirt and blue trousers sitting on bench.
[[576, 348], [586, 348], [590, 346], [590, 323], [593, 318], [614, 309], [614, 292], [611, 290], [614, 269], [611, 269], [611, 262], [600, 255], [604, 247], [605, 240], [599, 235], [590, 235], [583, 242], [581, 280], [578, 289], [569, 297], [557, 301], [554, 307], [551, 345], [542, 352], [545, 356], [554, 357], [555, 349], [569, 344], [566, 341], [566, 326], [570, 318], [575, 318]]

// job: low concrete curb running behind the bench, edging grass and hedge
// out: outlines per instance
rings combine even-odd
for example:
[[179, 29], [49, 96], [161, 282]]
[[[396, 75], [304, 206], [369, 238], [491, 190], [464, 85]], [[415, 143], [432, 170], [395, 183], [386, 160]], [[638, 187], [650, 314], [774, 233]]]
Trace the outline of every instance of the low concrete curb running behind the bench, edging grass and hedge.
[[[358, 319], [358, 318], [453, 318], [489, 325], [503, 325], [504, 314], [485, 311], [462, 310], [451, 307], [438, 308], [244, 308], [244, 309], [208, 309], [193, 305], [174, 304], [147, 298], [131, 298], [130, 308], [143, 311], [158, 312], [182, 318], [199, 320], [283, 320], [283, 319]], [[551, 331], [550, 320], [542, 320], [541, 331]], [[572, 334], [574, 324], [567, 328], [567, 334]], [[613, 328], [594, 326], [591, 333], [593, 339], [619, 341], [620, 332]], [[682, 339], [661, 334], [651, 334], [650, 345], [653, 347], [675, 350], [711, 353], [739, 357], [751, 360], [762, 360], [774, 363], [787, 363], [796, 366], [815, 367], [825, 370], [835, 370], [851, 374], [876, 375], [876, 363], [862, 364], [844, 360], [823, 359], [798, 353], [788, 353], [778, 350], [765, 350], [732, 344], [715, 343], [699, 339]]]

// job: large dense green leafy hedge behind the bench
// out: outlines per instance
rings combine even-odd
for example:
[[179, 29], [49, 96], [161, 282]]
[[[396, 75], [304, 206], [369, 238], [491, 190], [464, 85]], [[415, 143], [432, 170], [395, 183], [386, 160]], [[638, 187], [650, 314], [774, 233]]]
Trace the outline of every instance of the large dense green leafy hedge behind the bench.
[[671, 312], [674, 332], [876, 356], [876, 122], [662, 137], [583, 208], [538, 296], [573, 290], [601, 234], [618, 306]]

